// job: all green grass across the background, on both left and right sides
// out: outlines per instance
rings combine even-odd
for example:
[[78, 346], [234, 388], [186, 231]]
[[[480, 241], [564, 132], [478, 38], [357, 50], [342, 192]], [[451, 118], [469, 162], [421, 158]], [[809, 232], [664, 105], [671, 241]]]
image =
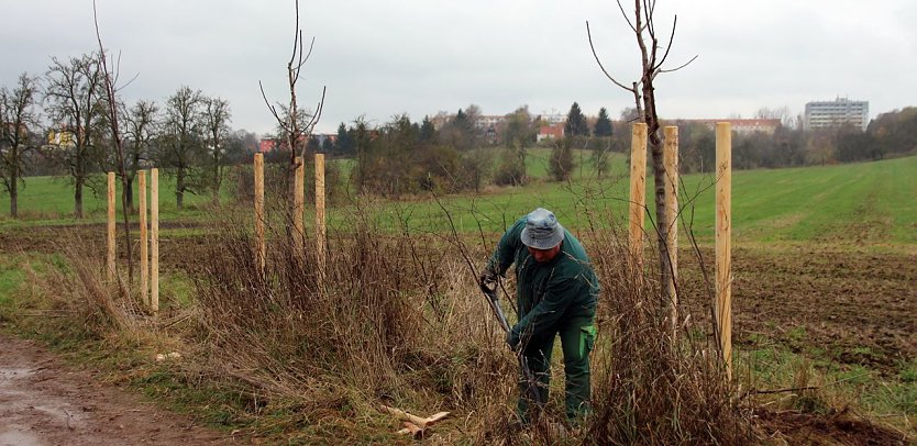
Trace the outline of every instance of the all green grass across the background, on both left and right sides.
[[[585, 227], [587, 210], [599, 222], [622, 221], [628, 201], [627, 160], [616, 154], [611, 170], [596, 179], [589, 153], [575, 153], [577, 168], [566, 183], [550, 181], [549, 149], [531, 149], [528, 171], [532, 181], [524, 187], [490, 187], [480, 194], [457, 194], [433, 200], [412, 199], [391, 205], [378, 202], [379, 219], [390, 224], [395, 213], [410, 227], [441, 231], [445, 219], [441, 207], [463, 232], [498, 232], [535, 207], [553, 210], [573, 231]], [[875, 163], [775, 170], [738, 170], [732, 175], [733, 235], [740, 242], [850, 242], [868, 244], [917, 243], [917, 157]], [[714, 178], [688, 175], [683, 178], [682, 216], [700, 239], [712, 236]], [[163, 220], [189, 220], [206, 214], [207, 196], [186, 194], [186, 210], [175, 205], [174, 182], [163, 177], [159, 193]], [[648, 203], [652, 209], [652, 178], [648, 179]], [[7, 226], [73, 223], [73, 190], [60, 179], [33, 177], [20, 194], [21, 221], [9, 218], [9, 197], [0, 197], [0, 228]], [[85, 194], [87, 221], [104, 219], [103, 197]], [[119, 200], [120, 208], [120, 200]], [[308, 212], [308, 211], [307, 211]], [[648, 214], [647, 226], [652, 230]], [[341, 213], [332, 211], [330, 225]], [[307, 218], [307, 221], [311, 221]], [[684, 230], [683, 230], [684, 231]]]

